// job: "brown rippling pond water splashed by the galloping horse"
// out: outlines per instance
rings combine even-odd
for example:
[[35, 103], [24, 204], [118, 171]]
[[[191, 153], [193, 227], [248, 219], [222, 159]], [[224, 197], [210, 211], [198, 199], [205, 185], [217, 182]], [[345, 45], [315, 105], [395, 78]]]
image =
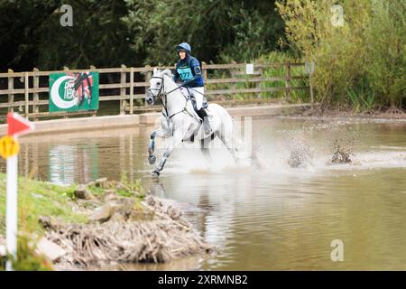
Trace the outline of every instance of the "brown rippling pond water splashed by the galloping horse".
[[[177, 200], [219, 249], [217, 256], [120, 269], [406, 269], [405, 122], [245, 123], [261, 169], [235, 164], [218, 145], [207, 163], [190, 144], [175, 149], [154, 182], [146, 150], [152, 126], [140, 126], [24, 137], [19, 172], [60, 184], [141, 179], [149, 193]], [[337, 145], [351, 163], [329, 162]], [[292, 157], [299, 167], [291, 167]], [[332, 261], [333, 240], [342, 242], [343, 261]]]

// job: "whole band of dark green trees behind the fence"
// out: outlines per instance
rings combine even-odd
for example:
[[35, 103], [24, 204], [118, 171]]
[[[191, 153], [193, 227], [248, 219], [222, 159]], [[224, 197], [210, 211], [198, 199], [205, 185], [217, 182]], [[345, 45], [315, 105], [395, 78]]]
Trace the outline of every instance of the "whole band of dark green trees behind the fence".
[[[61, 5], [73, 27], [60, 25]], [[172, 65], [180, 42], [201, 61], [251, 61], [283, 29], [268, 0], [3, 0], [0, 17], [1, 70]]]

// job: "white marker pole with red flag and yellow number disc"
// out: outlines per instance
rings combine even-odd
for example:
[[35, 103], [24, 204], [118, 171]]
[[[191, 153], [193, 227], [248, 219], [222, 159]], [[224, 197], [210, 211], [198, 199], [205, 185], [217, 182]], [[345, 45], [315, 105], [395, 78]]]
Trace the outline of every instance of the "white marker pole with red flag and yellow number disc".
[[[31, 132], [35, 126], [26, 118], [16, 113], [7, 114], [7, 135], [0, 139], [0, 154], [7, 159], [7, 183], [5, 204], [5, 240], [7, 253], [14, 259], [17, 257], [18, 207], [17, 207], [17, 178], [18, 178], [18, 135]], [[7, 261], [7, 271], [13, 271], [12, 262]]]

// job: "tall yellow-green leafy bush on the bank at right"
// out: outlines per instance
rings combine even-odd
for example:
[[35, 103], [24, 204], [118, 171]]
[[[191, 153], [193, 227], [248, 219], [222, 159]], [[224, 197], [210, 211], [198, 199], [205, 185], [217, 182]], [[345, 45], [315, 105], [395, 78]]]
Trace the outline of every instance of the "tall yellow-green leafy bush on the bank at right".
[[[341, 1], [343, 25], [335, 22], [340, 17], [335, 4], [333, 0], [276, 3], [286, 25], [286, 44], [304, 60], [316, 62], [317, 100], [361, 104], [357, 109], [400, 106], [406, 87], [405, 3]], [[366, 91], [374, 95], [365, 96]]]

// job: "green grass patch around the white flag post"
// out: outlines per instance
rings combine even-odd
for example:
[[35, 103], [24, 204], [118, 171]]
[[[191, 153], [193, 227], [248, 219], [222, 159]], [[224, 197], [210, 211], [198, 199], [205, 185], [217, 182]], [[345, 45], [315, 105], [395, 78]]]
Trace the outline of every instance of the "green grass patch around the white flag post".
[[[5, 185], [6, 176], [0, 173], [0, 234], [5, 236]], [[57, 217], [66, 222], [84, 223], [87, 217], [72, 211], [69, 201], [75, 185], [60, 187], [47, 182], [18, 178], [18, 259], [13, 261], [14, 270], [51, 270], [43, 256], [34, 252], [32, 234], [41, 237], [43, 228], [40, 216]], [[33, 243], [32, 243], [33, 242]], [[4, 260], [0, 263], [4, 263]], [[4, 264], [0, 264], [0, 271]]]

